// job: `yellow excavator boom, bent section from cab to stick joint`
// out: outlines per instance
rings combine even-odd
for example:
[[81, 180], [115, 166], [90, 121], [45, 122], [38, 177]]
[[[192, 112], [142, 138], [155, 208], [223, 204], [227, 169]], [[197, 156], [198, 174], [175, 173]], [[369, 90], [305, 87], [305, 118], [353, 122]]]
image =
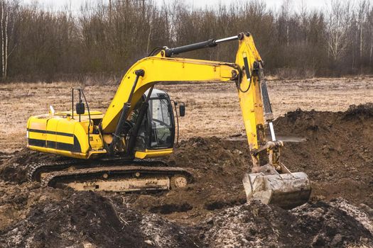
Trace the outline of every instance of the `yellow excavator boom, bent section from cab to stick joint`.
[[131, 111], [145, 91], [157, 83], [229, 81], [238, 75], [235, 64], [161, 57], [161, 53], [139, 60], [126, 72], [102, 119], [104, 133], [114, 133], [125, 103], [129, 103]]

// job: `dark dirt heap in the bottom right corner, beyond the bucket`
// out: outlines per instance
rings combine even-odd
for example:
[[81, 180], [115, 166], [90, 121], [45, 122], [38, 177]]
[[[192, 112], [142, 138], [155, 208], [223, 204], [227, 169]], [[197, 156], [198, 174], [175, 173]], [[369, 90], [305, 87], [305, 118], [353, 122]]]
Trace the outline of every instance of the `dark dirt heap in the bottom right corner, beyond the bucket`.
[[345, 247], [349, 243], [373, 245], [373, 215], [343, 198], [301, 205], [291, 213], [296, 215], [296, 229], [306, 235], [303, 240], [309, 240], [314, 247]]

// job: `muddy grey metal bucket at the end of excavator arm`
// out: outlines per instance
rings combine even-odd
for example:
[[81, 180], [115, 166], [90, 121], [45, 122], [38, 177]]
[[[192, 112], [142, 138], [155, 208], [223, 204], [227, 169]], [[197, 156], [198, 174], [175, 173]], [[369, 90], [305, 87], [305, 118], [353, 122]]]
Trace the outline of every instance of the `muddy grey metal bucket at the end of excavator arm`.
[[273, 170], [271, 174], [251, 173], [245, 174], [242, 182], [247, 201], [253, 199], [281, 208], [294, 208], [310, 198], [310, 180], [303, 172], [279, 174]]

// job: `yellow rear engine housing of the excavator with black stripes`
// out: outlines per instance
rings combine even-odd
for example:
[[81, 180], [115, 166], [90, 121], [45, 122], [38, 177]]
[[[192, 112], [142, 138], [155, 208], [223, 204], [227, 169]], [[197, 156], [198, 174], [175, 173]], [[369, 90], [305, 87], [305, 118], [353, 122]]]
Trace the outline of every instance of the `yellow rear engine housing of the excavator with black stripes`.
[[[102, 113], [91, 111], [91, 122], [101, 120]], [[92, 133], [88, 114], [71, 118], [71, 112], [31, 116], [27, 123], [28, 147], [39, 152], [49, 152], [67, 157], [87, 159], [105, 154], [102, 137]], [[90, 130], [88, 127], [90, 126]], [[88, 133], [90, 137], [88, 138]]]

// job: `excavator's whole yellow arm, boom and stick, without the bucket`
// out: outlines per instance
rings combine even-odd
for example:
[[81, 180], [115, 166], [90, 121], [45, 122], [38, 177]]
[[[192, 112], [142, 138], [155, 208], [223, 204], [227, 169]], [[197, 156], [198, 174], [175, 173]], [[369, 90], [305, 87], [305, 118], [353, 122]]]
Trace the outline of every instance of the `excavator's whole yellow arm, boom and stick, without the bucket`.
[[[230, 40], [239, 40], [236, 63], [171, 57], [181, 52], [213, 47], [218, 43]], [[124, 75], [119, 89], [102, 119], [102, 133], [106, 137], [109, 136], [106, 140], [109, 140], [111, 152], [115, 152], [115, 147], [120, 142], [121, 126], [129, 117], [129, 113], [144, 92], [154, 84], [159, 82], [193, 84], [201, 81], [235, 81], [249, 147], [253, 151], [254, 164], [259, 166], [260, 152], [254, 153], [254, 151], [266, 144], [264, 108], [259, 86], [261, 64], [261, 57], [256, 50], [252, 35], [249, 33], [240, 33], [222, 40], [207, 40], [184, 47], [164, 47], [155, 56], [139, 60]], [[263, 158], [266, 161], [265, 156]]]

